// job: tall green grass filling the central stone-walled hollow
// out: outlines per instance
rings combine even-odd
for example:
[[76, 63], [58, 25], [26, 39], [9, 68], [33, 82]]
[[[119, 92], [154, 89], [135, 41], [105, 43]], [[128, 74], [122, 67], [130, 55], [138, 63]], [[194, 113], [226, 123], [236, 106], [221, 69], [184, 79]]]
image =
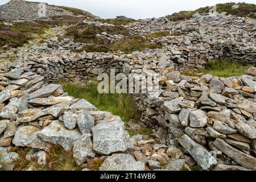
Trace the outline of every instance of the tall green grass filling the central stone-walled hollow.
[[71, 82], [63, 82], [61, 84], [69, 96], [84, 98], [99, 110], [110, 111], [112, 114], [118, 115], [122, 118], [123, 122], [128, 122], [130, 119], [138, 120], [141, 117], [133, 105], [132, 98], [129, 94], [100, 94], [97, 90], [97, 84], [89, 84], [87, 86], [73, 84]]

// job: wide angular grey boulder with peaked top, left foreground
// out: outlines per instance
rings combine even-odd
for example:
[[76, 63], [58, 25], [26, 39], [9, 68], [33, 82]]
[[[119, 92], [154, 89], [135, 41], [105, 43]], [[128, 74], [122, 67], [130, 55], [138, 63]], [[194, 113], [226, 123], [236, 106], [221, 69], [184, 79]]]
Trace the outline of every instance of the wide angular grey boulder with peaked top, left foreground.
[[72, 150], [73, 143], [81, 137], [78, 130], [67, 130], [64, 123], [53, 121], [51, 125], [38, 132], [38, 136], [45, 142], [59, 144], [65, 150]]

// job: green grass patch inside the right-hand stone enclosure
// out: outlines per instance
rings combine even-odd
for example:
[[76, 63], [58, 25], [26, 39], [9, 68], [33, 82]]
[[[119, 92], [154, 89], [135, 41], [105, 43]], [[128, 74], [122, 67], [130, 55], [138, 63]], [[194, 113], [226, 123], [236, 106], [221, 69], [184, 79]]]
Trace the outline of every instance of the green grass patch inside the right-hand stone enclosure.
[[231, 77], [231, 76], [242, 76], [246, 69], [249, 68], [238, 62], [226, 61], [226, 60], [215, 60], [208, 61], [205, 69], [202, 70], [187, 70], [181, 72], [182, 75], [187, 76], [199, 76], [204, 74], [212, 74], [217, 77]]

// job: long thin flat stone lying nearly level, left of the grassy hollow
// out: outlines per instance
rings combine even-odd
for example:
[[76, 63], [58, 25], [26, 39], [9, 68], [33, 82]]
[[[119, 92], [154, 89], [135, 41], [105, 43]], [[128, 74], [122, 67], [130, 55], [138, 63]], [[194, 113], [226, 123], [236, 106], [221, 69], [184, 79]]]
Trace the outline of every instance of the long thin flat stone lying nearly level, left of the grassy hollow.
[[48, 98], [34, 98], [28, 101], [28, 104], [36, 107], [40, 106], [52, 106], [65, 101], [72, 101], [73, 97], [48, 97]]

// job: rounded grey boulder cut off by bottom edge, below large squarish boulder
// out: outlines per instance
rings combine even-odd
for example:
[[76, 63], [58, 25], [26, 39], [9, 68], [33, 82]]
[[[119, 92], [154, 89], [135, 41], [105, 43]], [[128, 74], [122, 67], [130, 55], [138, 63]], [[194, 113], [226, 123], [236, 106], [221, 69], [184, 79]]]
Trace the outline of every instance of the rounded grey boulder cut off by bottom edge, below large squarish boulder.
[[113, 154], [106, 158], [100, 171], [144, 171], [145, 166], [129, 154]]

